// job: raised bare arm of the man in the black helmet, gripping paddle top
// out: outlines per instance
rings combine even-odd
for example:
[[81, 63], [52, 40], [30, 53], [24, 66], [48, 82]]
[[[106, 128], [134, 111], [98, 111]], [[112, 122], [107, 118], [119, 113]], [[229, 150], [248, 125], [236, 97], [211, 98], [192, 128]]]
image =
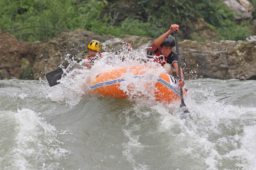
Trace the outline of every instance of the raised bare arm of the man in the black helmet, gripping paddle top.
[[152, 44], [149, 45], [148, 47], [149, 52], [155, 51], [156, 48], [158, 48], [158, 46], [160, 46], [164, 42], [164, 40], [168, 37], [168, 35], [173, 33], [175, 30], [179, 31], [179, 28], [180, 28], [179, 25], [172, 24], [170, 26], [170, 29], [166, 33], [158, 37]]

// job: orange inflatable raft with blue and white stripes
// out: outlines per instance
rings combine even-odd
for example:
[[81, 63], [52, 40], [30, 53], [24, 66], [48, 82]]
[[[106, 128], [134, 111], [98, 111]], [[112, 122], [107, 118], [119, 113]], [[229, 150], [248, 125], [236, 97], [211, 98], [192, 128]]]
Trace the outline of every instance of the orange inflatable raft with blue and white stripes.
[[[104, 96], [115, 97], [117, 99], [127, 98], [131, 94], [130, 92], [136, 91], [133, 83], [126, 86], [128, 91], [124, 91], [120, 87], [121, 83], [125, 81], [126, 76], [124, 75], [129, 74], [132, 75], [132, 78], [146, 79], [149, 81], [148, 86], [145, 85], [145, 83], [144, 86], [154, 88], [153, 90], [156, 100], [167, 103], [171, 103], [172, 100], [180, 100], [180, 87], [177, 85], [177, 80], [167, 73], [163, 73], [159, 77], [156, 77], [154, 72], [156, 72], [156, 69], [145, 65], [138, 65], [130, 68], [114, 67], [108, 69], [104, 73], [100, 73], [97, 78], [92, 79], [90, 88], [92, 91]], [[152, 79], [157, 80], [154, 81], [156, 83], [153, 86]], [[149, 85], [150, 83], [151, 85]], [[137, 93], [141, 92], [138, 91]], [[183, 94], [186, 96], [185, 88], [183, 88]]]

